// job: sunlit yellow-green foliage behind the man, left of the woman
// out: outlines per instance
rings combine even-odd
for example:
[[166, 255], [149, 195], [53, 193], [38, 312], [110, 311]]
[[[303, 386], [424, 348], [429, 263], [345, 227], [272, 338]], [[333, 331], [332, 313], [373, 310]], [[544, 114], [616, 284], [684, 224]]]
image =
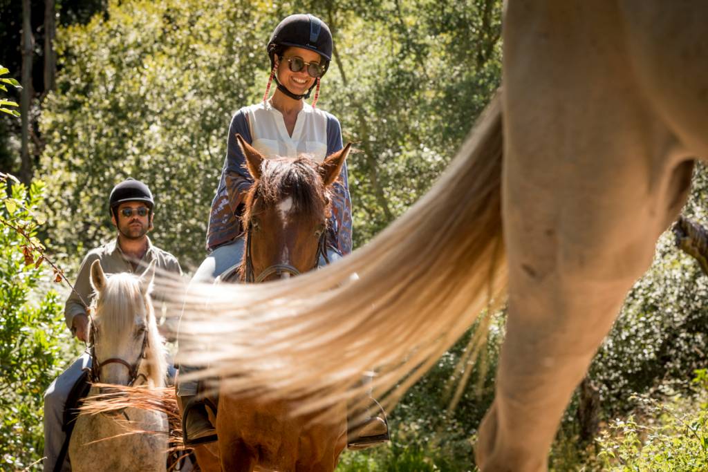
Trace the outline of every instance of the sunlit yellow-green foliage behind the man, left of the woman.
[[[201, 262], [234, 111], [268, 61], [249, 2], [111, 1], [57, 33], [57, 91], [41, 128], [55, 247], [113, 234], [108, 195], [128, 176], [156, 198], [156, 243]], [[256, 55], [258, 52], [258, 55]]]

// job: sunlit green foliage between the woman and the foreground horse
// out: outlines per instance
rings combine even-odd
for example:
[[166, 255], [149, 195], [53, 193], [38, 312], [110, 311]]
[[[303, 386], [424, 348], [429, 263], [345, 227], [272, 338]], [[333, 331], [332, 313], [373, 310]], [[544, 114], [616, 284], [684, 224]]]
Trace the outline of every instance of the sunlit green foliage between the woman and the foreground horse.
[[423, 195], [501, 82], [501, 1], [311, 2], [338, 55], [323, 108], [350, 156], [355, 246]]

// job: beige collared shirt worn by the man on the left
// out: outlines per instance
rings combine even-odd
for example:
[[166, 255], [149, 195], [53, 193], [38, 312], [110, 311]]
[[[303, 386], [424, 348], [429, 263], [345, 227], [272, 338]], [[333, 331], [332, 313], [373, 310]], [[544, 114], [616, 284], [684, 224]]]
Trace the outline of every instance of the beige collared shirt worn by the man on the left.
[[[79, 275], [76, 277], [74, 288], [76, 292], [69, 295], [67, 304], [64, 307], [64, 319], [67, 321], [67, 326], [72, 327], [74, 316], [78, 314], [86, 314], [86, 305], [91, 303], [93, 297], [93, 287], [91, 287], [91, 264], [94, 260], [101, 261], [101, 267], [106, 275], [116, 274], [118, 272], [130, 272], [136, 275], [142, 275], [147, 270], [148, 265], [155, 260], [157, 270], [166, 270], [182, 275], [182, 269], [177, 258], [167, 251], [153, 246], [150, 239], [147, 240], [147, 252], [141, 260], [139, 260], [137, 270], [133, 270], [129, 262], [129, 258], [120, 251], [118, 246], [118, 238], [105, 243], [103, 246], [93, 249], [86, 254], [84, 261], [79, 267]], [[79, 297], [81, 295], [81, 297]]]

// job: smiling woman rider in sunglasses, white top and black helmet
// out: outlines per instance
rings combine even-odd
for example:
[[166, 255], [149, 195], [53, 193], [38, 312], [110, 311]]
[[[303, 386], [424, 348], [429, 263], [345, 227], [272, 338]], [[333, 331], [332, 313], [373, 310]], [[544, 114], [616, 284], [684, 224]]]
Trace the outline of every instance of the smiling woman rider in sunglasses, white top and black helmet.
[[[229, 127], [227, 155], [207, 230], [207, 258], [192, 278], [193, 282], [210, 282], [241, 262], [244, 254], [244, 228], [240, 217], [244, 197], [253, 179], [246, 160], [236, 142], [236, 134], [255, 147], [266, 158], [297, 157], [309, 154], [322, 162], [342, 149], [339, 121], [319, 108], [320, 81], [332, 59], [333, 42], [329, 27], [312, 15], [291, 15], [273, 30], [268, 41], [270, 78], [261, 103], [241, 108]], [[277, 88], [272, 97], [270, 86]], [[315, 90], [312, 105], [305, 103]], [[326, 253], [329, 261], [338, 260], [352, 249], [351, 201], [346, 163], [333, 185], [332, 214], [328, 223]], [[326, 264], [324, 257], [319, 265]], [[194, 367], [181, 364], [181, 374]], [[197, 395], [196, 381], [178, 381], [177, 394], [184, 412], [185, 444], [200, 444], [216, 439], [204, 405]], [[372, 399], [372, 409], [377, 410]], [[383, 411], [358, 420], [350, 428], [350, 447], [366, 447], [388, 439]], [[354, 417], [352, 417], [354, 418]]]

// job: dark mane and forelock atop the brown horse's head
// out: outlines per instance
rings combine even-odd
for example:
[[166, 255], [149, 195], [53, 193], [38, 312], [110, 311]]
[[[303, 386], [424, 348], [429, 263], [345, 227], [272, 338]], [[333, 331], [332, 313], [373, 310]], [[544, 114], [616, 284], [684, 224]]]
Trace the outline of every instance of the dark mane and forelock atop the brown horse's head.
[[296, 159], [268, 159], [261, 179], [253, 183], [246, 194], [242, 217], [244, 228], [248, 228], [256, 199], [267, 208], [286, 197], [292, 198], [293, 211], [300, 219], [321, 220], [323, 206], [329, 214], [329, 189], [324, 188], [312, 159], [303, 155]]

